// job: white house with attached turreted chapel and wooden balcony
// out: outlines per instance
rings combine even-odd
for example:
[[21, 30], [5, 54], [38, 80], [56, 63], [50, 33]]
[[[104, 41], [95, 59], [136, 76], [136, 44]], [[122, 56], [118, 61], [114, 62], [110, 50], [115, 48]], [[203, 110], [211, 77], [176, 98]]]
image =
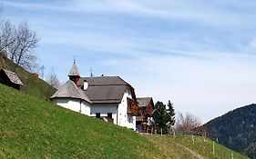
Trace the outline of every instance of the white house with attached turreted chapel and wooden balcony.
[[80, 77], [77, 65], [69, 80], [50, 98], [67, 109], [136, 130], [138, 103], [134, 88], [118, 76]]

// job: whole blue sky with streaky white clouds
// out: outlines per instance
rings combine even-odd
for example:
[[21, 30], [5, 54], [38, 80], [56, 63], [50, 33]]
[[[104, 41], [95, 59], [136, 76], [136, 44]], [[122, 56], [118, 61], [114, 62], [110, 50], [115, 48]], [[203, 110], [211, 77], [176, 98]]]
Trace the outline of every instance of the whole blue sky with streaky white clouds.
[[0, 0], [27, 22], [45, 77], [118, 75], [137, 97], [168, 100], [201, 123], [256, 103], [256, 1]]

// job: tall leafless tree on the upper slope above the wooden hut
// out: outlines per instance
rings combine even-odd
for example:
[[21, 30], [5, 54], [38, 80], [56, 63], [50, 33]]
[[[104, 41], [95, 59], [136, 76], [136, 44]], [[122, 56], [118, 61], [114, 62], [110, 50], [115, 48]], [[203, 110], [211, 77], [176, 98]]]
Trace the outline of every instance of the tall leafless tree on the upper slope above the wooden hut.
[[39, 41], [36, 32], [31, 31], [26, 22], [15, 27], [9, 21], [3, 21], [0, 29], [0, 51], [5, 49], [15, 64], [32, 71], [37, 60], [34, 48]]

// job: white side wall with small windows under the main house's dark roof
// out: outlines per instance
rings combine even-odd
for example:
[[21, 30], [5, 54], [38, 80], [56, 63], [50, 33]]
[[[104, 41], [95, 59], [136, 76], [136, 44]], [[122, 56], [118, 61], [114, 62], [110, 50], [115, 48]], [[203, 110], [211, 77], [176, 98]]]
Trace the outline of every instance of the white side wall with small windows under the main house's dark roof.
[[109, 113], [112, 114], [114, 119], [114, 124], [117, 124], [117, 109], [118, 104], [93, 104], [91, 106], [90, 116], [96, 116], [97, 113], [100, 113], [100, 116], [107, 117]]

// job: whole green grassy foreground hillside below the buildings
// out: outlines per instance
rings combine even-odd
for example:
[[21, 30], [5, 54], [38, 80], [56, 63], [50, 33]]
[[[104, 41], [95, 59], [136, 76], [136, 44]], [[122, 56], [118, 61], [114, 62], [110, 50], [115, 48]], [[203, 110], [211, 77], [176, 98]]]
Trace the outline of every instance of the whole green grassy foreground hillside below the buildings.
[[[142, 135], [0, 84], [0, 158], [229, 158], [191, 136]], [[233, 153], [235, 158], [246, 158]]]

